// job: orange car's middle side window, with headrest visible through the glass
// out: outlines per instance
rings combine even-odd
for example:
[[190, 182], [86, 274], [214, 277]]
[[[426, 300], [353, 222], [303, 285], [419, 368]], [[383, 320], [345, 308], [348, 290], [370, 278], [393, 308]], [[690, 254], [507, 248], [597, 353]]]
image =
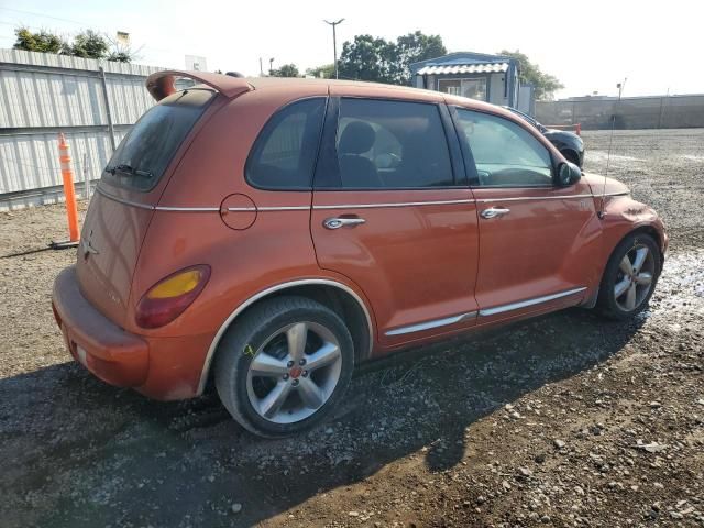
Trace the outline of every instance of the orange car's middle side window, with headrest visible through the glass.
[[343, 98], [336, 148], [343, 188], [454, 185], [436, 105]]

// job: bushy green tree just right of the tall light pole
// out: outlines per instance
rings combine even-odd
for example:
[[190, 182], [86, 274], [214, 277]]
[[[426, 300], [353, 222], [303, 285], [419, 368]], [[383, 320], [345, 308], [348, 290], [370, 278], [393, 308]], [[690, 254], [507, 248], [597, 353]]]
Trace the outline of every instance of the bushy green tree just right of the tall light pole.
[[395, 84], [398, 78], [396, 44], [372, 35], [355, 35], [342, 45], [340, 78]]

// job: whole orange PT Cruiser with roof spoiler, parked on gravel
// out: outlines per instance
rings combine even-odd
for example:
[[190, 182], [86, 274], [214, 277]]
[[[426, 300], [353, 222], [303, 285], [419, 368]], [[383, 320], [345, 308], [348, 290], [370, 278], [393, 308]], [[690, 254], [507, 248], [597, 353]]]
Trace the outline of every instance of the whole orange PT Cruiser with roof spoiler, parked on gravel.
[[147, 89], [53, 294], [107, 383], [183, 399], [212, 381], [280, 437], [369, 359], [571, 306], [632, 317], [652, 295], [657, 213], [498, 107], [201, 72]]

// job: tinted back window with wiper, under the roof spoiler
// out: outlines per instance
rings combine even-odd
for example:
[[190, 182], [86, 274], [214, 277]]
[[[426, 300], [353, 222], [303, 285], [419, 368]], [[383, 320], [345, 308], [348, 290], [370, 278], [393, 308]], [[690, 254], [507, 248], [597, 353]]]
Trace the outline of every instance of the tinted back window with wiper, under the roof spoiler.
[[199, 88], [184, 90], [151, 108], [122, 140], [102, 179], [135, 190], [152, 189], [215, 94]]

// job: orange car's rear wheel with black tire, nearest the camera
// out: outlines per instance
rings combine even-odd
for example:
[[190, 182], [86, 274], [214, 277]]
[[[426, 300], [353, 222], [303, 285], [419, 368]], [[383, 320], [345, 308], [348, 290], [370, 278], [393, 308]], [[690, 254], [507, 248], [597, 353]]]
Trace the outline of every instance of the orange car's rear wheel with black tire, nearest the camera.
[[280, 438], [322, 421], [353, 366], [352, 337], [334, 311], [305, 297], [277, 297], [227, 331], [216, 355], [216, 387], [245, 429]]

